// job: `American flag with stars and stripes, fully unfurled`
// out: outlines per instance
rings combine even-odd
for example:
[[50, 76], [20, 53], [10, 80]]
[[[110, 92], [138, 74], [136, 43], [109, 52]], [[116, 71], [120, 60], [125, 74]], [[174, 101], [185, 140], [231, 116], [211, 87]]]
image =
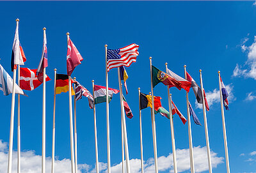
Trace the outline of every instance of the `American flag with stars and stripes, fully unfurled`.
[[111, 68], [120, 66], [130, 66], [136, 62], [136, 57], [139, 55], [139, 45], [132, 43], [121, 49], [108, 49], [107, 50], [107, 66], [108, 71]]

